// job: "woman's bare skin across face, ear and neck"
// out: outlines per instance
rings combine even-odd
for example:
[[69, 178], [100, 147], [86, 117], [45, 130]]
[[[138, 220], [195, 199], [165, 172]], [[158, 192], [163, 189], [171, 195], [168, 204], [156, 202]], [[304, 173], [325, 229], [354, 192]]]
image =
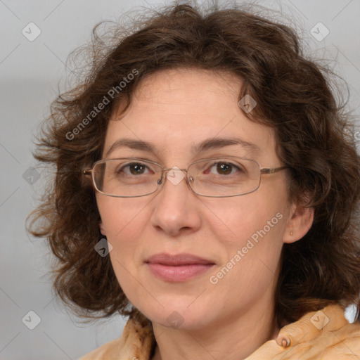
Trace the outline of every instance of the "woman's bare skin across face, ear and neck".
[[[280, 167], [274, 133], [250, 121], [238, 106], [241, 82], [229, 73], [162, 70], [136, 90], [126, 113], [113, 113], [103, 158], [140, 157], [162, 167], [187, 168], [202, 158], [237, 155], [260, 167]], [[191, 153], [210, 137], [239, 136], [259, 147], [238, 145]], [[153, 142], [155, 153], [117, 148], [117, 139]], [[195, 195], [186, 180], [166, 180], [161, 191], [139, 198], [96, 193], [101, 233], [113, 245], [110, 259], [129, 301], [153, 323], [153, 359], [244, 359], [275, 339], [274, 291], [283, 243], [309, 230], [311, 210], [289, 203], [285, 171], [263, 175], [254, 193], [229, 198]], [[216, 284], [210, 276], [226, 266], [252, 234], [283, 215], [266, 236]], [[191, 253], [211, 259], [210, 271], [182, 283], [155, 277], [144, 260], [159, 252]], [[177, 311], [181, 326], [167, 317]]]

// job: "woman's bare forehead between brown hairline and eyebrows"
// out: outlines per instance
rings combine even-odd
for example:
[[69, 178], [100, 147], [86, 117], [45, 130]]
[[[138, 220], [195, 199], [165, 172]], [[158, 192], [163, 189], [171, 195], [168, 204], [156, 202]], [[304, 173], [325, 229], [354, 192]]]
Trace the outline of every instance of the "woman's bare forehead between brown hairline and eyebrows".
[[214, 138], [240, 139], [243, 149], [252, 154], [275, 150], [273, 131], [240, 110], [241, 85], [234, 75], [209, 70], [162, 70], [148, 75], [134, 92], [129, 109], [113, 113], [104, 154], [121, 139], [153, 145], [143, 151], [155, 148], [158, 155], [193, 155], [209, 150], [205, 142]]

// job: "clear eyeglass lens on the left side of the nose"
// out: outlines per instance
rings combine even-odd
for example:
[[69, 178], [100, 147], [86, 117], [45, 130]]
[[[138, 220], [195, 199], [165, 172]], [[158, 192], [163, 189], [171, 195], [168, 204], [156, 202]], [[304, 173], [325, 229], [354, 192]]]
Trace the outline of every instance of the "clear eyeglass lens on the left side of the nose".
[[158, 188], [161, 167], [140, 159], [111, 159], [97, 162], [94, 184], [106, 195], [134, 197], [153, 193]]

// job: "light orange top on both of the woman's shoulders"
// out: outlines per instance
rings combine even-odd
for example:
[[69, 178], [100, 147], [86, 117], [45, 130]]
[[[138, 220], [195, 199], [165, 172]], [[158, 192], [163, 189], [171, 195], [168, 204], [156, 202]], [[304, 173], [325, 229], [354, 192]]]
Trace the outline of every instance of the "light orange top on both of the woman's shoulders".
[[[269, 340], [244, 360], [360, 359], [360, 321], [349, 323], [339, 305], [309, 312], [281, 328], [279, 335], [288, 337], [288, 347]], [[148, 319], [143, 318], [142, 322], [129, 319], [120, 338], [79, 360], [150, 360], [154, 347], [155, 336]]]

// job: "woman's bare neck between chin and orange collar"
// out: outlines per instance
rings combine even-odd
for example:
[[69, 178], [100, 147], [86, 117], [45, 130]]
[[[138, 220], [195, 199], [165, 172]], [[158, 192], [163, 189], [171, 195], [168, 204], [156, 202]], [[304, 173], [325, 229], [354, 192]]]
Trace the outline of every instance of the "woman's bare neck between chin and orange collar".
[[153, 323], [153, 330], [157, 345], [152, 360], [240, 360], [275, 339], [279, 328], [271, 304], [252, 307], [238, 316], [229, 312], [206, 328], [174, 329]]

